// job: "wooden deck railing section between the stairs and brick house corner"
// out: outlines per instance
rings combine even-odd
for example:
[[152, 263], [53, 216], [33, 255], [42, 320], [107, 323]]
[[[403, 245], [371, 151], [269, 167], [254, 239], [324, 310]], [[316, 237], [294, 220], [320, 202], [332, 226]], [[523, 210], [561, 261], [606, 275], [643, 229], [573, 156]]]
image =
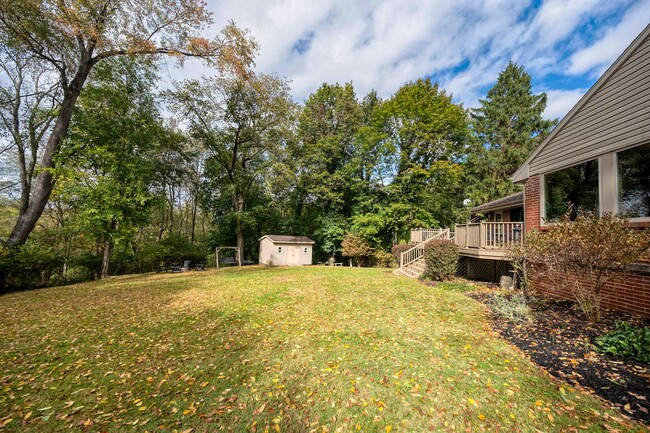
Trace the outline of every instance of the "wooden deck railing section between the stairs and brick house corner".
[[462, 248], [507, 249], [523, 239], [524, 223], [456, 224], [456, 245]]

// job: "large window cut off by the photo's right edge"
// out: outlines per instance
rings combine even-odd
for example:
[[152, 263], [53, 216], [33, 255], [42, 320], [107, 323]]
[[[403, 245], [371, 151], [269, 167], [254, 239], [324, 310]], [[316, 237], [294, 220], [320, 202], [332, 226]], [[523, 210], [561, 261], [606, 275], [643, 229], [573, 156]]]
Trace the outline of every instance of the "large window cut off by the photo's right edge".
[[619, 152], [617, 160], [618, 213], [650, 217], [650, 144]]

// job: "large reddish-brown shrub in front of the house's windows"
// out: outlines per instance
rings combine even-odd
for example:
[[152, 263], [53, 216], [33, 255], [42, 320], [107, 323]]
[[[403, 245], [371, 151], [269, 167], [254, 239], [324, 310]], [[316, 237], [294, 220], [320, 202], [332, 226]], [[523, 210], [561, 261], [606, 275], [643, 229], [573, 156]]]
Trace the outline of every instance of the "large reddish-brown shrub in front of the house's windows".
[[611, 214], [571, 211], [544, 232], [526, 234], [528, 273], [553, 278], [578, 302], [588, 320], [601, 319], [603, 288], [650, 247], [650, 233]]

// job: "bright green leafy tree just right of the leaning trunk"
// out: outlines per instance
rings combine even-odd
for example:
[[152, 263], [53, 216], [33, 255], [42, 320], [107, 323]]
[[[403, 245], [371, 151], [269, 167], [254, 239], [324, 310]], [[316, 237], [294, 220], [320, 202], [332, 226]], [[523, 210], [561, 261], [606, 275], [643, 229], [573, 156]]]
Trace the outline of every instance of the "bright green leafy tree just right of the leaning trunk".
[[[100, 277], [116, 242], [129, 241], [149, 217], [150, 154], [160, 137], [152, 65], [112, 59], [99, 65], [75, 108], [56, 172], [76, 224], [103, 246]], [[58, 162], [58, 161], [57, 161]]]

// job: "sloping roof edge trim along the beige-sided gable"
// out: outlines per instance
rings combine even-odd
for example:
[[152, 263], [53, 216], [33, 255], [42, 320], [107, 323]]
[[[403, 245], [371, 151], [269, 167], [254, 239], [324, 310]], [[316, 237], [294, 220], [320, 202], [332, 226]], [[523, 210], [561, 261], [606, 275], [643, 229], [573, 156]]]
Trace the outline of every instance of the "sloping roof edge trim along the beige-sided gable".
[[608, 82], [609, 78], [632, 56], [636, 49], [645, 41], [650, 34], [650, 24], [636, 37], [636, 39], [623, 51], [623, 53], [616, 59], [614, 63], [605, 71], [605, 73], [594, 83], [593, 86], [585, 93], [582, 98], [573, 106], [573, 108], [564, 116], [562, 121], [551, 131], [544, 141], [535, 149], [535, 151], [528, 157], [528, 159], [517, 169], [512, 175], [513, 182], [524, 182], [529, 177], [530, 163], [537, 155], [539, 155], [544, 148], [553, 141], [554, 137], [558, 135], [567, 124], [576, 116], [583, 106]]

